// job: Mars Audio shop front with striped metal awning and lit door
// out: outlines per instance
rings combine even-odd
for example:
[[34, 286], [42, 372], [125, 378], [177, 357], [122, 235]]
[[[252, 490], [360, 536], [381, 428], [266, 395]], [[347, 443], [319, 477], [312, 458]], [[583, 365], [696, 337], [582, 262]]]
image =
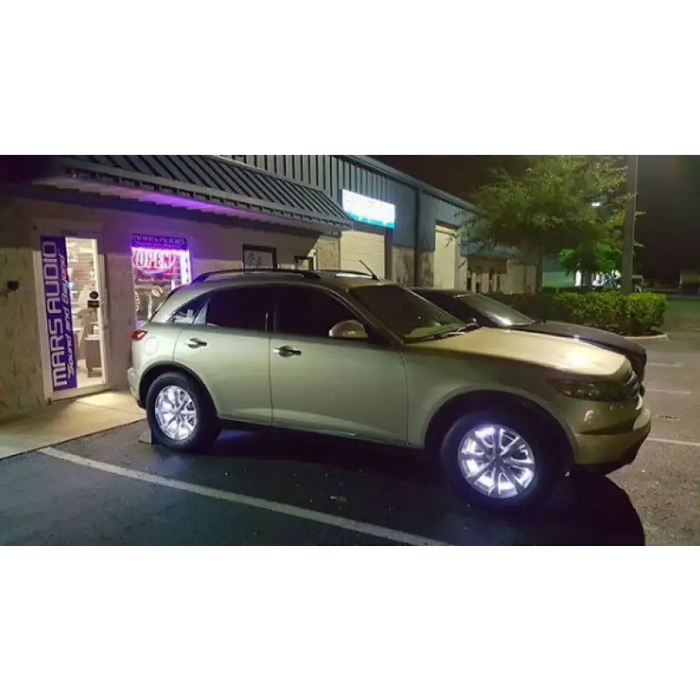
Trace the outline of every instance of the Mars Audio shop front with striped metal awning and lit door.
[[0, 420], [125, 387], [130, 337], [212, 269], [340, 267], [353, 220], [323, 192], [193, 153], [3, 164]]

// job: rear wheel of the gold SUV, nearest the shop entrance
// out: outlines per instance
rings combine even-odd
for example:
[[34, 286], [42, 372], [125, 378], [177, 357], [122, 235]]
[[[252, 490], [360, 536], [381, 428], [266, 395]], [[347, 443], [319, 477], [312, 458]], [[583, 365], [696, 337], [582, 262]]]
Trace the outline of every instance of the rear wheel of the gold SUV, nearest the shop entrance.
[[151, 384], [146, 413], [155, 442], [171, 450], [202, 450], [221, 432], [210, 396], [181, 372], [162, 374]]

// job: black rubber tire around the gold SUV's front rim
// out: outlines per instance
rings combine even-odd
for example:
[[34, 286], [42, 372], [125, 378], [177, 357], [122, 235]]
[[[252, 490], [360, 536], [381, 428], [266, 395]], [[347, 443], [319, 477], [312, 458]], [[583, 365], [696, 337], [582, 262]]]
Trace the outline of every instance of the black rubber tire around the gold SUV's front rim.
[[[534, 477], [521, 494], [509, 498], [496, 498], [478, 490], [469, 483], [463, 474], [460, 460], [460, 447], [470, 431], [481, 425], [499, 425], [515, 431], [527, 443], [534, 457]], [[549, 434], [548, 434], [549, 433]], [[560, 478], [568, 471], [569, 465], [558, 439], [553, 439], [551, 431], [538, 417], [521, 407], [503, 407], [492, 411], [470, 412], [457, 420], [448, 430], [440, 447], [440, 466], [453, 488], [469, 503], [485, 510], [514, 513], [534, 510], [541, 506], [552, 494]], [[489, 472], [486, 472], [488, 478]], [[516, 470], [523, 477], [525, 472]], [[523, 481], [526, 481], [523, 479]], [[503, 492], [506, 492], [501, 477]], [[510, 491], [513, 491], [510, 486]]]

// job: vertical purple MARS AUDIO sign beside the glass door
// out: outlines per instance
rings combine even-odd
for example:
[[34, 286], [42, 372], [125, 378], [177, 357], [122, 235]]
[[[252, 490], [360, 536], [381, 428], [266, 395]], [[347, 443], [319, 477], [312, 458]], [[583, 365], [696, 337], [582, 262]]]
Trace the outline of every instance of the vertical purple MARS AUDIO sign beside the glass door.
[[68, 251], [63, 236], [41, 237], [41, 271], [53, 390], [78, 387], [75, 336], [71, 311]]

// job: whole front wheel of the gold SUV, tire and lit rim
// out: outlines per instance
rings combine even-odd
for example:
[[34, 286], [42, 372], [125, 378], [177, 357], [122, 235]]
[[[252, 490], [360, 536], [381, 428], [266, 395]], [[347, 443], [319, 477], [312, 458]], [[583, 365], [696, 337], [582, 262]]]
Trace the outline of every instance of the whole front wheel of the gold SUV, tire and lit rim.
[[521, 408], [460, 418], [445, 435], [440, 463], [469, 502], [500, 512], [540, 504], [566, 472], [546, 428]]

